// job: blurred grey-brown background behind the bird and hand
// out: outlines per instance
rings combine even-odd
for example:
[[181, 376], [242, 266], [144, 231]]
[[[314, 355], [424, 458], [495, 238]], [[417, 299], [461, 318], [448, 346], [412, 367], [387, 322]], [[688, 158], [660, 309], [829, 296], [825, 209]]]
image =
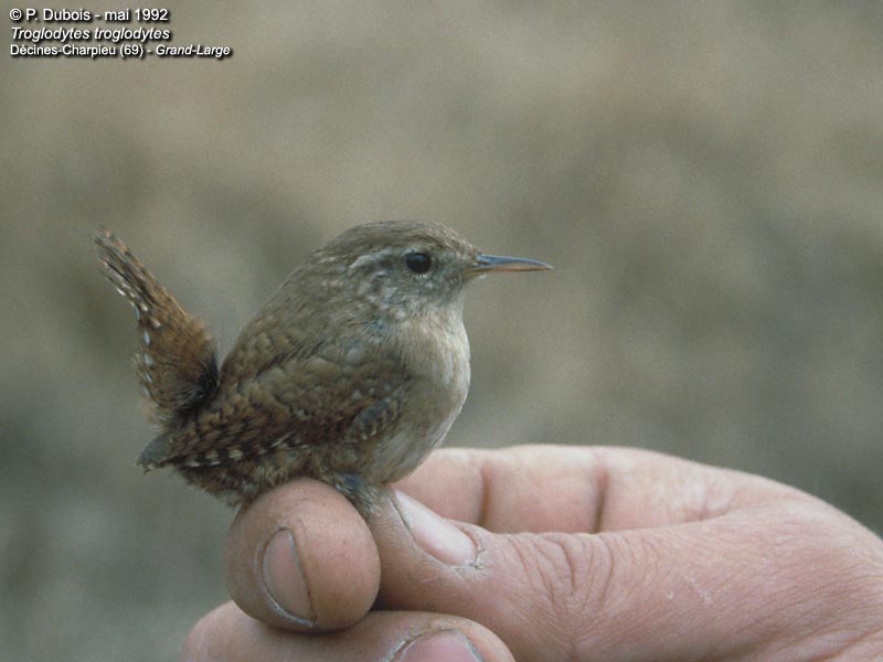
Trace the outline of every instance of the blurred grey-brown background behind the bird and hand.
[[0, 58], [0, 659], [177, 659], [226, 598], [232, 512], [134, 466], [99, 226], [222, 351], [357, 222], [546, 260], [472, 288], [449, 445], [651, 448], [883, 531], [883, 6], [163, 7], [234, 56]]

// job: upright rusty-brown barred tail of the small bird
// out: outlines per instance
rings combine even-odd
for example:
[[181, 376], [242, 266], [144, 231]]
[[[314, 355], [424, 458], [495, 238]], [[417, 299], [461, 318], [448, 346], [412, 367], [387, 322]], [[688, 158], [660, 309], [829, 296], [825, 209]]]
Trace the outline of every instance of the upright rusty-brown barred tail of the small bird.
[[166, 459], [169, 434], [217, 388], [215, 343], [205, 325], [181, 308], [123, 242], [109, 231], [94, 239], [105, 275], [135, 308], [138, 377], [163, 433], [145, 449], [139, 465], [158, 467]]

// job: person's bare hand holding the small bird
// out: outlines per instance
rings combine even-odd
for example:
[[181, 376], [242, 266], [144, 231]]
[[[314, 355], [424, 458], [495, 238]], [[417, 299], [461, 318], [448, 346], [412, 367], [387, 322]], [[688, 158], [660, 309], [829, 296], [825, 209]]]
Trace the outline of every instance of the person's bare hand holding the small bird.
[[883, 659], [883, 541], [786, 485], [542, 446], [436, 451], [394, 493], [370, 524], [309, 479], [241, 512], [235, 602], [183, 659]]

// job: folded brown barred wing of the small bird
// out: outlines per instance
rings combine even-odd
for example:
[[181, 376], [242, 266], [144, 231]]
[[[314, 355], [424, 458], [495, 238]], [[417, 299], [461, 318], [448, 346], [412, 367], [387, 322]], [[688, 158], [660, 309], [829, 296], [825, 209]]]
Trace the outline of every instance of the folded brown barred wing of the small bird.
[[281, 448], [368, 441], [396, 424], [408, 382], [401, 361], [376, 346], [320, 348], [222, 384], [177, 435], [151, 442], [140, 463], [211, 467]]

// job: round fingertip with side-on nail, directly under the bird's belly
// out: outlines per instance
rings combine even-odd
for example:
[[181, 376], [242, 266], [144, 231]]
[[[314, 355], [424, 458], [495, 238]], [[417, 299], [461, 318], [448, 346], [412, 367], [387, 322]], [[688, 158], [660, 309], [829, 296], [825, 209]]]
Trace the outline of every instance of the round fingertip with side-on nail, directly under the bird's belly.
[[279, 485], [241, 511], [225, 557], [236, 604], [285, 630], [350, 627], [377, 596], [380, 558], [368, 524], [337, 490], [315, 480]]

